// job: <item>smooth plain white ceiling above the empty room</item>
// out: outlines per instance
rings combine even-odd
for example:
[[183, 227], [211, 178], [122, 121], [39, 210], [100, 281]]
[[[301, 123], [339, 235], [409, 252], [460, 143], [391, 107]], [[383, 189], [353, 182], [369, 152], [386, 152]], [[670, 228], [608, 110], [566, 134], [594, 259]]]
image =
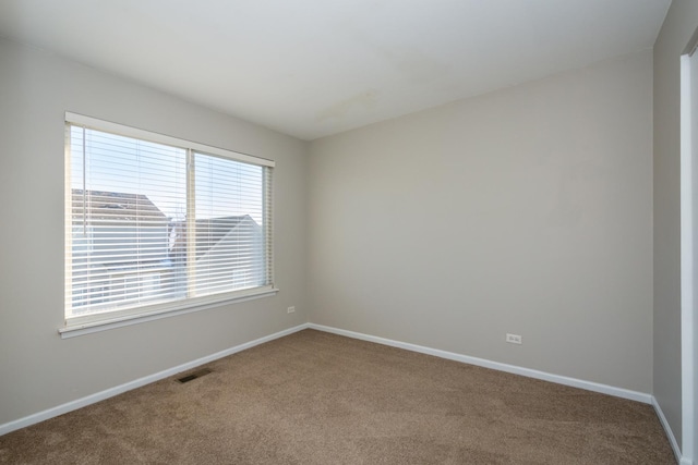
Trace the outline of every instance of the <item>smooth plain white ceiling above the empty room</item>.
[[1, 0], [0, 36], [314, 139], [651, 48], [670, 3]]

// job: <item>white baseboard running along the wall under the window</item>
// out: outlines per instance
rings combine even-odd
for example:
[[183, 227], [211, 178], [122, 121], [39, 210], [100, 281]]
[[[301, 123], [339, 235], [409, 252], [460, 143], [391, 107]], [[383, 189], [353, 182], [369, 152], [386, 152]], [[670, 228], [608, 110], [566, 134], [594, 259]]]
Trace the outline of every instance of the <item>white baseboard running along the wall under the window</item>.
[[217, 360], [218, 358], [227, 357], [228, 355], [236, 354], [238, 352], [244, 351], [245, 348], [254, 347], [255, 345], [264, 344], [265, 342], [273, 341], [275, 339], [284, 338], [285, 335], [292, 334], [298, 331], [302, 331], [308, 329], [309, 325], [303, 323], [293, 328], [286, 329], [284, 331], [275, 332], [274, 334], [265, 335], [260, 339], [255, 339], [254, 341], [245, 342], [240, 345], [236, 345], [234, 347], [226, 348], [225, 351], [217, 352], [212, 355], [207, 355], [205, 357], [197, 358], [192, 362], [188, 362], [182, 365], [178, 365], [172, 368], [168, 368], [166, 370], [159, 371], [154, 375], [149, 375], [143, 378], [139, 378], [136, 380], [117, 386], [115, 388], [109, 388], [104, 391], [97, 392], [95, 394], [87, 395], [82, 399], [77, 399], [75, 401], [67, 402], [64, 404], [58, 405], [56, 407], [48, 408], [43, 412], [38, 412], [36, 414], [26, 416], [24, 418], [20, 418], [10, 423], [5, 423], [4, 425], [0, 425], [0, 436], [7, 435], [8, 432], [15, 431], [17, 429], [25, 428], [27, 426], [35, 425], [37, 423], [47, 420], [49, 418], [57, 417], [59, 415], [67, 414], [69, 412], [75, 411], [77, 408], [85, 407], [87, 405], [104, 401], [109, 397], [113, 397], [115, 395], [119, 395], [123, 392], [131, 391], [136, 388], [141, 388], [145, 384], [149, 384], [155, 381], [159, 381], [161, 379], [168, 378], [170, 376], [177, 375], [182, 371], [190, 370], [201, 365], [208, 364], [210, 362]]

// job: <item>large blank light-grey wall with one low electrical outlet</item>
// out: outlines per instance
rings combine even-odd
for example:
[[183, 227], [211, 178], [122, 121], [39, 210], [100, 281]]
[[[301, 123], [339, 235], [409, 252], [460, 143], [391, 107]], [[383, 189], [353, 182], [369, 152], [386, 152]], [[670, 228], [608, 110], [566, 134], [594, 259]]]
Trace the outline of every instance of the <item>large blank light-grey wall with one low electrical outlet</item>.
[[310, 320], [651, 393], [651, 96], [648, 50], [311, 143]]

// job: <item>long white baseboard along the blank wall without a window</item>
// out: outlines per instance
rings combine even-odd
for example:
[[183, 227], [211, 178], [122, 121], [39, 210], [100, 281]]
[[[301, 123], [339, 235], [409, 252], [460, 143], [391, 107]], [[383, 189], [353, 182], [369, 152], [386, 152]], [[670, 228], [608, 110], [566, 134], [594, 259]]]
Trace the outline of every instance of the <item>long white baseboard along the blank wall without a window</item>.
[[441, 351], [438, 348], [431, 348], [422, 345], [410, 344], [407, 342], [394, 341], [390, 339], [378, 338], [375, 335], [363, 334], [354, 331], [347, 331], [344, 329], [327, 327], [323, 325], [310, 323], [309, 328], [315, 329], [318, 331], [330, 332], [333, 334], [345, 335], [347, 338], [360, 339], [362, 341], [369, 341], [369, 342], [375, 342], [377, 344], [389, 345], [392, 347], [398, 347], [398, 348], [405, 348], [407, 351], [419, 352], [421, 354], [433, 355], [441, 358], [447, 358], [449, 360], [461, 362], [464, 364], [477, 365], [479, 367], [491, 368], [498, 371], [506, 371], [514, 375], [521, 375], [528, 378], [541, 379], [544, 381], [565, 384], [573, 388], [585, 389], [587, 391], [600, 392], [602, 394], [614, 395], [616, 397], [629, 399], [631, 401], [642, 402], [645, 404], [652, 404], [652, 395], [643, 392], [631, 391], [628, 389], [616, 388], [613, 386], [601, 384], [592, 381], [585, 381], [581, 379], [569, 378], [569, 377], [559, 376], [559, 375], [553, 375], [545, 371], [517, 367], [515, 365], [502, 364], [498, 362], [492, 362], [484, 358], [471, 357], [468, 355], [456, 354], [454, 352]]

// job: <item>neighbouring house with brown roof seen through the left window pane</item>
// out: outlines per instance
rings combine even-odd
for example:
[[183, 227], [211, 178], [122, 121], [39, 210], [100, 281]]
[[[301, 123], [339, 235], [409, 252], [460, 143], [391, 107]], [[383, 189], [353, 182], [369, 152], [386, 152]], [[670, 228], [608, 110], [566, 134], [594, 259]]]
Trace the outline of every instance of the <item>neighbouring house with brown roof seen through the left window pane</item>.
[[72, 219], [75, 313], [176, 295], [170, 219], [147, 196], [73, 189]]

